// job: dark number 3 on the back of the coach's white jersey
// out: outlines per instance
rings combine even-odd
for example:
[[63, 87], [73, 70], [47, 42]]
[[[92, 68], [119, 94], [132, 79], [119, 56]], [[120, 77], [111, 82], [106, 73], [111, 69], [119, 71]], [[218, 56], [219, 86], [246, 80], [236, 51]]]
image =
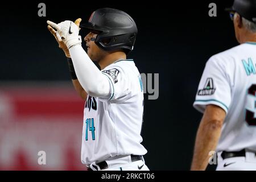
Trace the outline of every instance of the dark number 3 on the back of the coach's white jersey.
[[[253, 106], [254, 106], [254, 109], [255, 109], [255, 107], [256, 107], [256, 101], [255, 101], [256, 85], [255, 84], [251, 85], [250, 88], [248, 89], [247, 93], [248, 93], [249, 96], [254, 97]], [[256, 118], [254, 117], [254, 112], [246, 109], [245, 121], [250, 126], [256, 126]]]

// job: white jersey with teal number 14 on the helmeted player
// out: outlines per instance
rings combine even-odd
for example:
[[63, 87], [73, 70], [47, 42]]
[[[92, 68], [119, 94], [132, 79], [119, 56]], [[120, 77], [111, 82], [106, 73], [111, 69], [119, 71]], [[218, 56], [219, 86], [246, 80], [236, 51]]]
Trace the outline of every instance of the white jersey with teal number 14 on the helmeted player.
[[116, 155], [144, 155], [141, 128], [143, 85], [133, 60], [119, 60], [103, 69], [111, 94], [88, 96], [82, 129], [82, 163], [89, 166]]

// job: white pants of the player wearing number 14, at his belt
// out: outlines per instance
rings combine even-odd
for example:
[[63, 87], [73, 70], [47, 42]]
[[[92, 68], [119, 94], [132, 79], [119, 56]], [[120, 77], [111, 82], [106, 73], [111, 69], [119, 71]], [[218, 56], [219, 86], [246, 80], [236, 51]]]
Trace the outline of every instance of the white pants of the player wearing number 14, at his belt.
[[[143, 157], [142, 157], [143, 159]], [[105, 160], [108, 168], [101, 170], [100, 167], [94, 162], [90, 164], [93, 171], [149, 171], [144, 159], [131, 162], [131, 156], [119, 156]], [[97, 167], [97, 169], [95, 168]]]

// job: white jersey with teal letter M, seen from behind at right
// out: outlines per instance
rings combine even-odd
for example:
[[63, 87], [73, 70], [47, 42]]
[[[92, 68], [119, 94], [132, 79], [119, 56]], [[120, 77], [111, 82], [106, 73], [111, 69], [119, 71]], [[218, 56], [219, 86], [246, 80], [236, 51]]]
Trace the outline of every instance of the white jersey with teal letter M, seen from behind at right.
[[222, 107], [226, 118], [217, 151], [256, 151], [256, 43], [245, 43], [208, 60], [193, 106]]

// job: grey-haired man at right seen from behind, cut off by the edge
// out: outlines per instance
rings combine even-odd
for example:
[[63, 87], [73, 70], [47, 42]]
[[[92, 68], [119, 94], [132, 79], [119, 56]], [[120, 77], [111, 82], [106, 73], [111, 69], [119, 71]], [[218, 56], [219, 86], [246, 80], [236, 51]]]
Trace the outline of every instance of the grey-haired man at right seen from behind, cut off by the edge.
[[227, 9], [240, 46], [210, 57], [193, 106], [204, 113], [192, 170], [217, 152], [216, 170], [256, 170], [256, 0]]

